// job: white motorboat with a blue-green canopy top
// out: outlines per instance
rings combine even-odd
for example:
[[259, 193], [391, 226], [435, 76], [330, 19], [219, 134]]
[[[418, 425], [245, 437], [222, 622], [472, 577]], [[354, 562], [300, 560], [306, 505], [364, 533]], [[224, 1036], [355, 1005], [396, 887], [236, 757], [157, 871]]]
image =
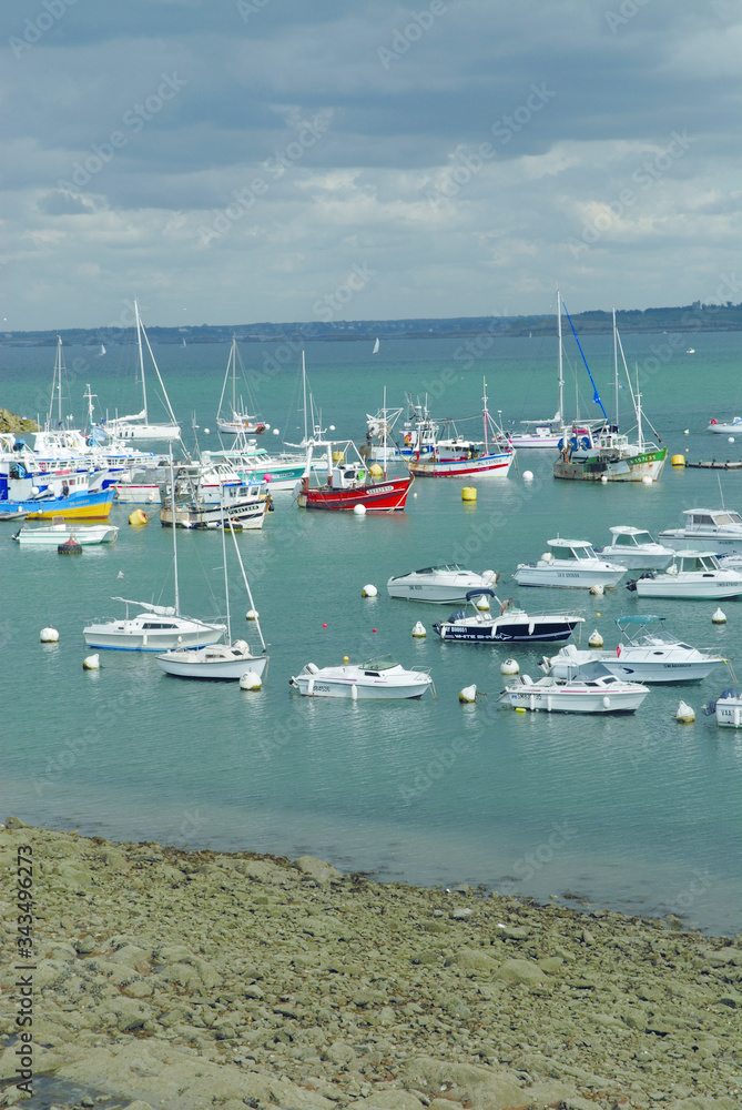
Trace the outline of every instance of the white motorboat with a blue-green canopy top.
[[660, 620], [664, 617], [651, 614], [619, 617], [616, 624], [623, 638], [616, 650], [580, 650], [567, 644], [550, 659], [545, 658], [541, 669], [555, 678], [609, 674], [628, 682], [698, 683], [724, 662], [674, 636], [650, 630], [649, 626]]

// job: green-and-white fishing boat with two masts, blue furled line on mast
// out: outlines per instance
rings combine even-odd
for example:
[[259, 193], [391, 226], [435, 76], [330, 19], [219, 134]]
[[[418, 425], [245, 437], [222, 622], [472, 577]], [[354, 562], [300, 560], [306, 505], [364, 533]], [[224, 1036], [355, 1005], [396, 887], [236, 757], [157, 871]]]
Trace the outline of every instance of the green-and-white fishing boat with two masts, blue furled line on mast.
[[[563, 303], [563, 302], [562, 302]], [[634, 393], [623, 355], [623, 347], [616, 326], [616, 310], [613, 310], [613, 380], [616, 386], [616, 420], [609, 420], [594, 383], [585, 352], [577, 337], [575, 325], [565, 306], [572, 334], [577, 341], [585, 369], [592, 384], [592, 400], [600, 406], [603, 420], [590, 422], [587, 427], [575, 424], [571, 431], [565, 431], [559, 442], [559, 458], [553, 464], [555, 478], [577, 480], [583, 482], [659, 482], [662, 476], [668, 448], [653, 441], [644, 440], [642, 427], [641, 393]], [[619, 373], [618, 355], [621, 353], [629, 391], [637, 417], [637, 437], [630, 442], [629, 436], [619, 432]], [[659, 436], [658, 436], [659, 438]]]

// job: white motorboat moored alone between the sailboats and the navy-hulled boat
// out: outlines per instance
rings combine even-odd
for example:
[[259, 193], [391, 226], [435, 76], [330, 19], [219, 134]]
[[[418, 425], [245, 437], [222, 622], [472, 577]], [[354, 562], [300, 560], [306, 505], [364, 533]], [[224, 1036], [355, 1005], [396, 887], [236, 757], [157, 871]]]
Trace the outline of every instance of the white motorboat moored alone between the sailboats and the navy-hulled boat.
[[292, 677], [293, 689], [307, 697], [419, 698], [433, 686], [427, 670], [405, 670], [393, 655], [368, 659], [360, 666], [317, 667], [307, 663]]

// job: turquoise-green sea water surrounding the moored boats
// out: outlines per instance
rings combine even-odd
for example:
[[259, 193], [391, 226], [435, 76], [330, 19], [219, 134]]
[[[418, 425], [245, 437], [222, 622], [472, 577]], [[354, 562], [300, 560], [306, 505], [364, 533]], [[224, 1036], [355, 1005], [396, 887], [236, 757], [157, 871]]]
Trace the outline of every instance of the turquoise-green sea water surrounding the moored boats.
[[[662, 335], [623, 337], [647, 415], [671, 455], [740, 458], [742, 441], [730, 444], [704, 428], [710, 416], [742, 408], [742, 336], [687, 339], [678, 345]], [[695, 353], [685, 354], [687, 346]], [[589, 337], [583, 347], [611, 412], [610, 336]], [[296, 442], [299, 343], [242, 350], [254, 401], [272, 425], [265, 445]], [[83, 421], [87, 383], [99, 415], [138, 412], [133, 349], [95, 352], [65, 350], [65, 415]], [[186, 444], [197, 437], [216, 447], [228, 346], [161, 346], [155, 354]], [[53, 355], [0, 346], [0, 406], [45, 412]], [[467, 433], [480, 426], [484, 379], [490, 411], [501, 411], [504, 422], [557, 408], [556, 339], [485, 336], [469, 350], [453, 340], [382, 340], [377, 355], [370, 343], [307, 343], [306, 363], [323, 423], [338, 438], [363, 440], [366, 413], [382, 405], [384, 387], [389, 405], [403, 405], [406, 391], [427, 393], [435, 415], [472, 417], [459, 425]], [[566, 379], [567, 413], [579, 383], [581, 414], [594, 415], [579, 354], [568, 359]], [[153, 418], [162, 415], [156, 390], [148, 376]], [[125, 653], [101, 653], [101, 669], [83, 672], [83, 625], [120, 615], [112, 595], [172, 602], [172, 533], [156, 517], [134, 529], [129, 509], [114, 507], [118, 543], [78, 558], [21, 548], [10, 541], [12, 525], [0, 525], [3, 813], [113, 839], [311, 852], [380, 878], [468, 881], [539, 899], [569, 892], [593, 907], [681, 914], [708, 930], [739, 931], [742, 733], [719, 729], [700, 712], [731, 685], [724, 669], [698, 685], [653, 687], [631, 717], [516, 714], [497, 705], [500, 664], [514, 654], [521, 673], [538, 677], [543, 649], [441, 644], [430, 626], [447, 609], [386, 594], [390, 575], [439, 561], [492, 568], [504, 576], [501, 597], [533, 610], [577, 608], [583, 638], [598, 628], [612, 646], [614, 618], [642, 607], [636, 595], [622, 587], [601, 598], [519, 591], [510, 578], [517, 563], [537, 558], [557, 535], [601, 545], [611, 525], [655, 534], [680, 524], [683, 508], [722, 498], [742, 506], [742, 472], [668, 465], [653, 486], [593, 486], [553, 482], [551, 463], [549, 451], [521, 453], [507, 480], [475, 483], [475, 505], [461, 502], [460, 481], [418, 480], [407, 512], [390, 517], [312, 514], [277, 495], [263, 532], [237, 541], [270, 643], [257, 694], [167, 678], [153, 658]], [[223, 615], [221, 536], [179, 533], [177, 543], [183, 612]], [[378, 597], [362, 597], [367, 583]], [[254, 640], [236, 565], [230, 596], [238, 634]], [[725, 625], [712, 624], [715, 607], [657, 601], [651, 609], [667, 616], [669, 630], [734, 660], [742, 606], [723, 603]], [[428, 628], [423, 640], [410, 635], [418, 619]], [[48, 624], [59, 629], [59, 645], [39, 643]], [[289, 692], [291, 675], [309, 660], [324, 666], [377, 652], [429, 667], [437, 697], [350, 704]], [[463, 706], [458, 692], [472, 683], [487, 696]], [[681, 697], [697, 712], [693, 725], [674, 719]]]

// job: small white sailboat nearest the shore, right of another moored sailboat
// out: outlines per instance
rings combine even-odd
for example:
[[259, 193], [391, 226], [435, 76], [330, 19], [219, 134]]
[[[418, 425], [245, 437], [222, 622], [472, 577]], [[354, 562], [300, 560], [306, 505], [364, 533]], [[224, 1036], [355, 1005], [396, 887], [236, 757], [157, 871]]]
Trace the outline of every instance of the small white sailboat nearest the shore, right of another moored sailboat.
[[247, 575], [245, 574], [245, 567], [237, 546], [237, 538], [234, 534], [234, 526], [231, 519], [225, 521], [224, 511], [222, 509], [222, 561], [224, 564], [224, 596], [226, 599], [227, 643], [214, 644], [210, 647], [200, 647], [195, 649], [175, 648], [174, 650], [165, 652], [164, 655], [159, 655], [155, 660], [157, 666], [161, 667], [166, 675], [172, 675], [175, 678], [226, 678], [234, 680], [242, 678], [242, 676], [247, 672], [252, 672], [257, 676], [257, 678], [262, 679], [265, 668], [268, 665], [265, 640], [263, 639], [261, 624], [257, 618], [255, 619], [255, 627], [257, 628], [257, 635], [261, 639], [262, 652], [260, 655], [253, 655], [246, 640], [232, 640], [230, 584], [226, 569], [226, 525], [228, 525], [230, 532], [232, 533], [234, 549], [237, 555], [237, 562], [240, 563], [240, 569], [242, 571], [242, 579], [245, 584], [245, 589], [250, 599], [250, 607], [251, 609], [255, 608], [250, 583], [247, 582]]

